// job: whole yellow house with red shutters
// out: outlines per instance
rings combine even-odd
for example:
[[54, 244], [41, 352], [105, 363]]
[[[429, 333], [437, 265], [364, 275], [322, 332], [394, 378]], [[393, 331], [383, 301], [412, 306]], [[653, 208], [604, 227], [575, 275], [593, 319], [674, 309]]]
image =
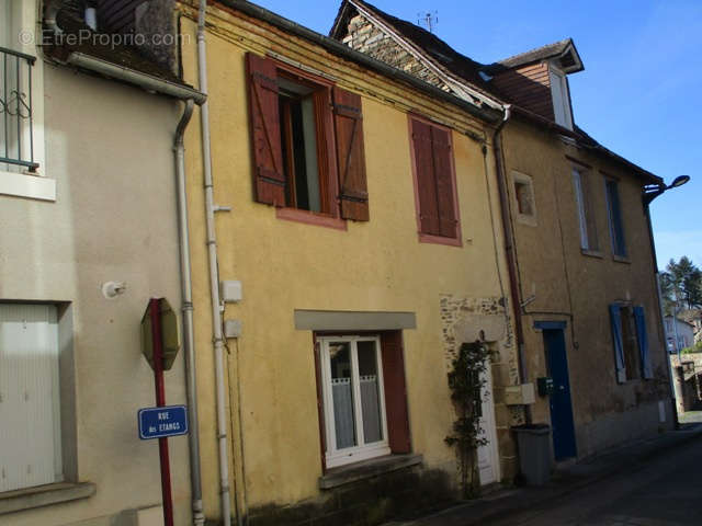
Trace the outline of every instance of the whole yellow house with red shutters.
[[501, 106], [245, 1], [208, 2], [200, 71], [197, 4], [179, 9], [184, 80], [208, 80], [186, 136], [206, 516], [377, 524], [452, 499], [464, 342], [495, 352], [480, 482], [510, 481]]

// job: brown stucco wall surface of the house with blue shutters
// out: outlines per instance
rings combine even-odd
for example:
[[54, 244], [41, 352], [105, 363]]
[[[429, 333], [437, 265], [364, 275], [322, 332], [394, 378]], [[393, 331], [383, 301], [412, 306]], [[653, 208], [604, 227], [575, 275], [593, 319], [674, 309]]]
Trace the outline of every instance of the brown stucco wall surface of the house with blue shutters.
[[[534, 321], [565, 321], [578, 456], [655, 431], [656, 408], [669, 405], [669, 380], [658, 308], [650, 242], [641, 199], [642, 182], [631, 172], [591, 152], [579, 150], [556, 135], [519, 121], [505, 129], [508, 173], [530, 175], [535, 196], [535, 226], [513, 221], [525, 311], [525, 354], [533, 380], [546, 376], [543, 336]], [[580, 250], [577, 204], [570, 159], [586, 167], [599, 237], [598, 256]], [[619, 181], [627, 259], [612, 255], [604, 178]], [[510, 192], [513, 187], [510, 184]], [[511, 201], [513, 204], [513, 199]], [[655, 378], [616, 382], [608, 306], [631, 301], [645, 309], [650, 361]], [[632, 414], [637, 414], [633, 418]], [[534, 418], [550, 421], [547, 399], [537, 398]], [[607, 425], [600, 424], [607, 422]], [[664, 426], [670, 426], [668, 413]], [[591, 432], [596, 427], [607, 433]], [[621, 442], [621, 441], [620, 441]]]

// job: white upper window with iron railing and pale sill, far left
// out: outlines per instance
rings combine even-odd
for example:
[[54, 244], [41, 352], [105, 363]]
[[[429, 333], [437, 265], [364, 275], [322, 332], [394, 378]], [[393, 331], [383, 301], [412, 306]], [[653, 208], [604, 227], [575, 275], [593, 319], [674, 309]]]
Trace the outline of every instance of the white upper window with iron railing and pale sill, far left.
[[56, 182], [44, 176], [39, 3], [0, 0], [0, 194], [56, 201]]

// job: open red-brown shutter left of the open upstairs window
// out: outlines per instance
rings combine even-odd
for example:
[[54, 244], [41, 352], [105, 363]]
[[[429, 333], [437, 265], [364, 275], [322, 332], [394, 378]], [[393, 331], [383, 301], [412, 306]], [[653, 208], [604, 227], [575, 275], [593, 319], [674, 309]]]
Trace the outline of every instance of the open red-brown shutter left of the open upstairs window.
[[285, 206], [285, 171], [281, 145], [275, 64], [248, 53], [249, 112], [256, 201]]

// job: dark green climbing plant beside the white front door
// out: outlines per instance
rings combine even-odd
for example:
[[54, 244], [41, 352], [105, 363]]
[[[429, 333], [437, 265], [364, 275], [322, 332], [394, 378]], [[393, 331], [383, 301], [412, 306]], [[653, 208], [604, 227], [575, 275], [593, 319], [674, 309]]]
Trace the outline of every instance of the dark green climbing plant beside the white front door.
[[480, 342], [464, 343], [449, 373], [449, 388], [456, 410], [456, 420], [453, 423], [453, 433], [446, 436], [445, 442], [456, 449], [464, 499], [476, 498], [480, 492], [477, 448], [487, 445], [480, 428], [480, 392], [487, 381], [485, 373], [490, 354], [488, 347]]

